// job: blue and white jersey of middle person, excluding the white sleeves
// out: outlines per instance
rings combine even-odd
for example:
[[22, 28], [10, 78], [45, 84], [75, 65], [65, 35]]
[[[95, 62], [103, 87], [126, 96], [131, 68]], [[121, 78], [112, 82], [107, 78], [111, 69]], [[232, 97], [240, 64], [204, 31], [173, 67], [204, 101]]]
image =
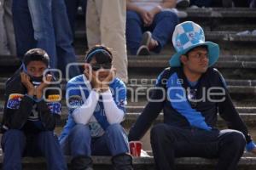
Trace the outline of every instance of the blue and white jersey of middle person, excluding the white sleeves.
[[[109, 88], [112, 91], [116, 105], [119, 109], [125, 112], [125, 83], [120, 81], [118, 78], [115, 78], [113, 82], [109, 84]], [[84, 101], [88, 98], [91, 90], [90, 82], [86, 77], [84, 77], [84, 75], [73, 77], [73, 79], [67, 82], [66, 101], [68, 106], [68, 119], [59, 138], [60, 140], [65, 138], [70, 130], [76, 125], [72, 116], [73, 111], [84, 104]], [[101, 97], [96, 105], [96, 110], [94, 111], [93, 116], [90, 118], [88, 126], [90, 127], [90, 134], [92, 137], [102, 136], [105, 129], [109, 126]]]

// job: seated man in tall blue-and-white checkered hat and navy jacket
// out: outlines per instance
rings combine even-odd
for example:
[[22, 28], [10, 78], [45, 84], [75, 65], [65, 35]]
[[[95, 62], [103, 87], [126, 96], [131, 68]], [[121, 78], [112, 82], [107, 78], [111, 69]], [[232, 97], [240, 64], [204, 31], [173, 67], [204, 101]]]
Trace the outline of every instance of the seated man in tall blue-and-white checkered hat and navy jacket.
[[[162, 71], [151, 101], [129, 133], [130, 140], [143, 137], [154, 119], [164, 112], [164, 122], [151, 129], [156, 169], [174, 169], [175, 157], [218, 158], [218, 170], [235, 170], [245, 146], [256, 146], [241, 121], [224, 78], [212, 68], [218, 60], [218, 44], [205, 42], [201, 26], [187, 21], [176, 26], [172, 43], [177, 54], [171, 68]], [[217, 114], [230, 129], [218, 130]]]

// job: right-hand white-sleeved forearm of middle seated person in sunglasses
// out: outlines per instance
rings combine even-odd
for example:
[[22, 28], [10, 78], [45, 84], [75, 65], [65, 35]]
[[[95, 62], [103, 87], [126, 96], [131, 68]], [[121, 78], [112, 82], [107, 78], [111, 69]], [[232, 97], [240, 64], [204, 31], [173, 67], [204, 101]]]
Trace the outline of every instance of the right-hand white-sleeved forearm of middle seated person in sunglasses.
[[113, 101], [110, 89], [102, 94], [102, 102], [104, 105], [105, 114], [110, 124], [120, 123], [123, 121], [125, 112], [119, 109], [119, 107]]

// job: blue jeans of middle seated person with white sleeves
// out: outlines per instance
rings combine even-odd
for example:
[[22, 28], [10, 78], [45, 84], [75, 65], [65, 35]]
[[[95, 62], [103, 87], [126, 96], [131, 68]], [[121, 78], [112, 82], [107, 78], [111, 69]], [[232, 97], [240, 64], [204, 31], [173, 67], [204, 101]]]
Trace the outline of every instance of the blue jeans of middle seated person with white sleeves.
[[89, 127], [77, 124], [60, 143], [64, 154], [73, 157], [116, 156], [129, 152], [128, 139], [119, 124], [110, 125], [99, 138], [91, 138]]

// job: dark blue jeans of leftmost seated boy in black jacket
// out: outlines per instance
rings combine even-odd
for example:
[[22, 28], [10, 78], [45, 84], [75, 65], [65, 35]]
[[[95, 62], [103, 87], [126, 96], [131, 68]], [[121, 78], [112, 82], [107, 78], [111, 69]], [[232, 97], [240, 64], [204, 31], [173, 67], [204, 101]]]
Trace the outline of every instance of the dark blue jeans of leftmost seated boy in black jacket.
[[66, 170], [67, 164], [54, 133], [25, 134], [10, 129], [3, 134], [3, 170], [21, 170], [22, 156], [44, 156], [49, 170]]

